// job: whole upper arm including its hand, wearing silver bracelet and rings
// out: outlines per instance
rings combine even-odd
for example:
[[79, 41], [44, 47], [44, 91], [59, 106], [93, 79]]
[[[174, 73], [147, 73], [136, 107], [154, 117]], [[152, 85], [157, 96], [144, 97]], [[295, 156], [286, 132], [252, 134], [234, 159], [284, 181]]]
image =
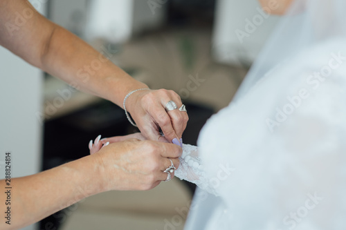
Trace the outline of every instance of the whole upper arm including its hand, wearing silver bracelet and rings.
[[[18, 15], [25, 20], [18, 23]], [[120, 107], [131, 90], [148, 88], [82, 39], [40, 15], [26, 0], [0, 0], [0, 45], [78, 90]], [[179, 95], [163, 89], [138, 91], [127, 99], [127, 111], [150, 140], [181, 138], [188, 115], [179, 110], [167, 113], [164, 106], [170, 100], [182, 104]]]

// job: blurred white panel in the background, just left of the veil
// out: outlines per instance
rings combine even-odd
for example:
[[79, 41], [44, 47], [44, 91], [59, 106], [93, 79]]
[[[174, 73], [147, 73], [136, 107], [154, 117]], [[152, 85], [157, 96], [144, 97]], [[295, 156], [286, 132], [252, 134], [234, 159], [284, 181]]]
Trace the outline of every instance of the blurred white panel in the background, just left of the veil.
[[[228, 64], [251, 64], [276, 23], [277, 17], [260, 12], [257, 0], [218, 0], [212, 39], [215, 59]], [[240, 31], [248, 37], [239, 36], [245, 35]]]

